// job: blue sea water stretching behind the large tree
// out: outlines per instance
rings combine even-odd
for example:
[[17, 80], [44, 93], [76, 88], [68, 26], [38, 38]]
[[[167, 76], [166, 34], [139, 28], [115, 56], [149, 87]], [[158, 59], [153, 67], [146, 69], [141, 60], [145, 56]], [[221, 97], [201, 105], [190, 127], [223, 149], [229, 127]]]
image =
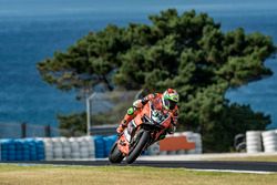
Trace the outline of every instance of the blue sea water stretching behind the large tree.
[[[150, 23], [148, 14], [167, 8], [205, 11], [224, 31], [242, 27], [277, 41], [275, 0], [0, 0], [0, 123], [57, 125], [58, 113], [84, 111], [74, 92], [44, 83], [35, 63], [65, 51], [89, 31], [109, 23]], [[271, 78], [230, 91], [227, 97], [270, 114], [271, 126], [277, 126], [276, 60], [266, 64], [275, 72]]]

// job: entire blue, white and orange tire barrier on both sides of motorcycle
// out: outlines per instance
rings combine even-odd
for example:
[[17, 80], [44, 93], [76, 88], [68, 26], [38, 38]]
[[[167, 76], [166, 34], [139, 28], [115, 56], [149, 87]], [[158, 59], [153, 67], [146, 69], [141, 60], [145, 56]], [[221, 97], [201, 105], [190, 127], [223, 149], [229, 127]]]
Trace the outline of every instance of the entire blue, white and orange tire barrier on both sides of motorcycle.
[[[161, 144], [168, 138], [183, 138], [184, 148], [163, 151]], [[89, 160], [107, 157], [116, 135], [0, 140], [1, 161], [53, 161], [53, 160]], [[170, 141], [171, 142], [171, 141]], [[174, 146], [175, 143], [170, 143]], [[189, 147], [187, 147], [189, 146]], [[193, 147], [192, 147], [193, 146]], [[143, 155], [175, 155], [202, 153], [201, 135], [193, 132], [175, 133], [154, 143]]]

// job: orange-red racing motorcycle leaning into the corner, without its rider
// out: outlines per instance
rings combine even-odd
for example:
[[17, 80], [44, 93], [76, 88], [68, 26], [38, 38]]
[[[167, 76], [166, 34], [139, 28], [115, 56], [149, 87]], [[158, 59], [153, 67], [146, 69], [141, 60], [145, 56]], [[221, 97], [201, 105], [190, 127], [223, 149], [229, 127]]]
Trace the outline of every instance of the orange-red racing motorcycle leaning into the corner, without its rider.
[[113, 144], [109, 161], [121, 163], [125, 157], [126, 163], [133, 163], [143, 151], [157, 142], [170, 126], [170, 112], [155, 107], [150, 101]]

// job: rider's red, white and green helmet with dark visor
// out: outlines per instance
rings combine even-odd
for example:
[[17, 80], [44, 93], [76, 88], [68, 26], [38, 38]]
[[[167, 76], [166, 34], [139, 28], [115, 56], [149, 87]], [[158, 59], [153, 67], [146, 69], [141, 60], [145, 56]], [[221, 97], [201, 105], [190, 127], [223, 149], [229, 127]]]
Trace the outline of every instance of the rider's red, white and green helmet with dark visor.
[[165, 110], [174, 110], [175, 105], [178, 103], [178, 93], [173, 89], [167, 89], [163, 93], [163, 106]]

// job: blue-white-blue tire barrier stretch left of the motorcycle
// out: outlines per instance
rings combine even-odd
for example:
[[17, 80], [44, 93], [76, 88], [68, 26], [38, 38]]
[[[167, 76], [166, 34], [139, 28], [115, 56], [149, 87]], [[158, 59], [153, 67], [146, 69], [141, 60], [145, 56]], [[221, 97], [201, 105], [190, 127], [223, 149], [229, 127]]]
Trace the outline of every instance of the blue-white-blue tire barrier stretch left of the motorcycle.
[[116, 135], [0, 140], [0, 161], [105, 158]]

